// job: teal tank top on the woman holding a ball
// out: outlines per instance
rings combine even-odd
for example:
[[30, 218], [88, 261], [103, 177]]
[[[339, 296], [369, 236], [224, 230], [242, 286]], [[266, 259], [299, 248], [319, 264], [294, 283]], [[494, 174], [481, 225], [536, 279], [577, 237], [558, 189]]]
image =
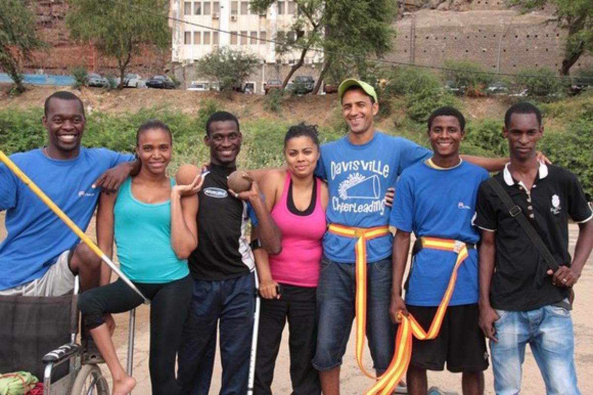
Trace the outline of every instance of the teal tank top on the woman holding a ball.
[[117, 258], [130, 280], [164, 283], [189, 274], [187, 260], [178, 259], [171, 247], [171, 200], [141, 202], [132, 195], [128, 177], [119, 188], [113, 215]]

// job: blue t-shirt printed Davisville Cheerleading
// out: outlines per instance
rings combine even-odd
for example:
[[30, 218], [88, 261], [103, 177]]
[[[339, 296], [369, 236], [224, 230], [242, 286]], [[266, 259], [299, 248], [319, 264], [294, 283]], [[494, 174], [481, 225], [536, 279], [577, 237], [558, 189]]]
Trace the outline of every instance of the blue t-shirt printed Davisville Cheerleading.
[[[396, 184], [404, 168], [431, 157], [432, 152], [409, 140], [375, 132], [371, 141], [351, 144], [348, 136], [321, 146], [315, 175], [327, 180], [330, 202], [327, 223], [347, 227], [387, 226], [387, 188]], [[326, 232], [323, 253], [340, 263], [355, 263], [355, 238]], [[366, 243], [367, 262], [391, 255], [391, 234]]]

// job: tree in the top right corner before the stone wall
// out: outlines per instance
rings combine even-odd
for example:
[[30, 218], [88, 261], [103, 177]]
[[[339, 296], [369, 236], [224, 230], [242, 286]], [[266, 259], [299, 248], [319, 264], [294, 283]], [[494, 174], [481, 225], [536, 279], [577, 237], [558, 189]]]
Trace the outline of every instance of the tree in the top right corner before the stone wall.
[[593, 52], [593, 1], [591, 0], [508, 0], [522, 12], [546, 4], [556, 8], [552, 21], [567, 31], [561, 75], [568, 75], [572, 65], [585, 53]]

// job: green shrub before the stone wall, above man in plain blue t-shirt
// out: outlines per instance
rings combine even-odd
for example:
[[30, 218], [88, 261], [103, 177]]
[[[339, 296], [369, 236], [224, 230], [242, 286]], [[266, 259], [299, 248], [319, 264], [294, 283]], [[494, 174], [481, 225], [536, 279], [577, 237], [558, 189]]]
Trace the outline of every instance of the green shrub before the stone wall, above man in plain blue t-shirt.
[[444, 77], [447, 81], [453, 81], [456, 86], [466, 87], [468, 96], [483, 96], [486, 88], [494, 81], [492, 74], [484, 72], [478, 63], [468, 60], [447, 60], [445, 61]]

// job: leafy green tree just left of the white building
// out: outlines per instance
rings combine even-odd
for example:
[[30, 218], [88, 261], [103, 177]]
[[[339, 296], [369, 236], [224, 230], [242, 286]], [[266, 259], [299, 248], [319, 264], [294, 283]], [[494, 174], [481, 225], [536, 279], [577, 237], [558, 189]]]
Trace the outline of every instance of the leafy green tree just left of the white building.
[[171, 43], [171, 31], [167, 20], [142, 10], [167, 11], [167, 0], [127, 0], [118, 2], [97, 0], [70, 0], [66, 24], [74, 39], [90, 43], [98, 52], [117, 60], [120, 82], [123, 88], [126, 67], [132, 55], [138, 55], [142, 47], [166, 49]]

